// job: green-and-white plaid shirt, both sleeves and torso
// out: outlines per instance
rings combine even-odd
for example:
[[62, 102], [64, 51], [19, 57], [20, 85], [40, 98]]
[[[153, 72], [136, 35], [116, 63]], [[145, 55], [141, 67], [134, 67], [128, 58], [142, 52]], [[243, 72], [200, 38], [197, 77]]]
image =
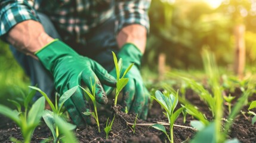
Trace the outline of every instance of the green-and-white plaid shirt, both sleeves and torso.
[[150, 0], [0, 0], [0, 36], [24, 20], [39, 21], [36, 11], [50, 17], [58, 29], [76, 36], [90, 32], [113, 14], [116, 32], [129, 24], [141, 24], [149, 32]]

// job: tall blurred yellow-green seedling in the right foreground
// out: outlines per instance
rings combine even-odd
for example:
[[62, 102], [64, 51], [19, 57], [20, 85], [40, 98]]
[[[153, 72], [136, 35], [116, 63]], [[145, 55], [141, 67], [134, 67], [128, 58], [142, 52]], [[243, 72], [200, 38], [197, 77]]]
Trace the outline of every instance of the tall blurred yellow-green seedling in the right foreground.
[[[223, 96], [221, 93], [223, 92], [223, 88], [221, 88], [220, 83], [218, 82], [219, 75], [218, 69], [215, 64], [213, 54], [204, 51], [203, 52], [203, 62], [205, 66], [205, 71], [209, 76], [209, 86], [212, 92], [212, 98], [215, 104], [215, 108], [212, 108], [214, 112], [214, 121], [205, 126], [201, 131], [196, 133], [195, 138], [192, 140], [196, 143], [201, 142], [239, 142], [238, 139], [226, 140], [227, 133], [230, 127], [233, 125], [233, 121], [235, 117], [238, 115], [240, 109], [245, 105], [248, 100], [249, 95], [251, 95], [254, 91], [255, 83], [248, 83], [248, 88], [243, 91], [242, 96], [238, 99], [238, 102], [233, 106], [229, 117], [227, 117], [227, 121], [225, 123], [222, 122], [223, 119]], [[198, 125], [196, 125], [198, 126]], [[222, 129], [224, 126], [224, 129]]]

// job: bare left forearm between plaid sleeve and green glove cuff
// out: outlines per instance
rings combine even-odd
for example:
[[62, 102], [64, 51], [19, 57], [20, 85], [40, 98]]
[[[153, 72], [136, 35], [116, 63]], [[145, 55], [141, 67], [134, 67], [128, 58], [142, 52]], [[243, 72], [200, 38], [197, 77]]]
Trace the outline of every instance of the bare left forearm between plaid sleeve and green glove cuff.
[[16, 24], [7, 34], [7, 41], [19, 51], [35, 57], [35, 52], [53, 41], [38, 21], [26, 20]]

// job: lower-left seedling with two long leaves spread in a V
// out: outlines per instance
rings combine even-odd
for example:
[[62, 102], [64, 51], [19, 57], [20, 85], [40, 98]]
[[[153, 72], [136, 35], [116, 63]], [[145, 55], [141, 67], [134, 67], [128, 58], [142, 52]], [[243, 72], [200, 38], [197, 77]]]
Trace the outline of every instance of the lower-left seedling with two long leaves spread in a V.
[[63, 95], [61, 95], [60, 99], [57, 101], [57, 95], [55, 96], [55, 105], [53, 102], [51, 102], [50, 98], [48, 98], [47, 94], [43, 92], [41, 89], [36, 88], [34, 86], [29, 86], [30, 88], [34, 89], [35, 91], [40, 92], [45, 99], [47, 100], [48, 104], [51, 107], [51, 110], [45, 110], [43, 113], [43, 119], [45, 123], [47, 124], [48, 128], [51, 130], [51, 133], [53, 134], [54, 142], [58, 142], [59, 139], [59, 130], [58, 126], [55, 125], [54, 116], [61, 116], [63, 114], [62, 107], [64, 105], [64, 102], [66, 102], [78, 89], [78, 86], [75, 86], [68, 91], [64, 92]]

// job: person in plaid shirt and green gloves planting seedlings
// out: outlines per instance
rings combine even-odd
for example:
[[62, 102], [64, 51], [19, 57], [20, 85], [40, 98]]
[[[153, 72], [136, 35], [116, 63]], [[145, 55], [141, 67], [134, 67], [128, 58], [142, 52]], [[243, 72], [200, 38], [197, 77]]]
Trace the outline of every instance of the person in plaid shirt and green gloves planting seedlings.
[[[32, 85], [47, 95], [54, 89], [62, 95], [77, 85], [90, 89], [90, 77], [95, 78], [100, 104], [107, 103], [110, 86], [116, 86], [111, 51], [116, 52], [123, 69], [134, 63], [121, 105], [146, 119], [149, 94], [140, 64], [149, 33], [149, 6], [150, 0], [0, 0], [0, 36], [10, 43]], [[64, 105], [76, 125], [91, 123], [82, 114], [90, 106], [81, 89]]]

